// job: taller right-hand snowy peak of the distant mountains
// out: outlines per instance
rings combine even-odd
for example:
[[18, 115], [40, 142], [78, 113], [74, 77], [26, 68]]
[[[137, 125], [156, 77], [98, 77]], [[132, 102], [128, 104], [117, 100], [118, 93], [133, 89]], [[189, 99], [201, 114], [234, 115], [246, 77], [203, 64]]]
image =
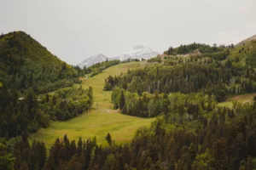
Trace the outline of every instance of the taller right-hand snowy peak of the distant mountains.
[[131, 49], [131, 51], [120, 54], [113, 59], [150, 59], [158, 55], [159, 53], [152, 50], [151, 48], [144, 47], [142, 45], [137, 45]]

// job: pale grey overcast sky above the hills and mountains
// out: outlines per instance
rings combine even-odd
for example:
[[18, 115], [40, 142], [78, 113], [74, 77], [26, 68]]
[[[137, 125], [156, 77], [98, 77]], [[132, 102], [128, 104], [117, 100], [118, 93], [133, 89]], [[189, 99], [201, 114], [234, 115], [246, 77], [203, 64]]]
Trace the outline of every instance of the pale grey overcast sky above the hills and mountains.
[[162, 53], [190, 42], [256, 34], [255, 0], [0, 0], [0, 31], [26, 31], [69, 64], [142, 44]]

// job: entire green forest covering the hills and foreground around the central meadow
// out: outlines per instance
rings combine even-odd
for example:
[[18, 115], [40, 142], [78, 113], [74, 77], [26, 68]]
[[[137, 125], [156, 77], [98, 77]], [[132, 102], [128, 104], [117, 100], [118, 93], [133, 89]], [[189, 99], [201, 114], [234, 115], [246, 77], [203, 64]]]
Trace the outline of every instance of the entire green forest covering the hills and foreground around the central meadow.
[[48, 151], [43, 141], [29, 144], [29, 133], [89, 111], [93, 89], [73, 83], [120, 61], [80, 69], [49, 54], [24, 32], [3, 35], [0, 169], [256, 169], [256, 98], [232, 107], [218, 105], [230, 96], [256, 92], [255, 54], [256, 41], [168, 48], [145, 68], [105, 80], [114, 109], [157, 117], [150, 127], [138, 129], [129, 144], [116, 144], [111, 132], [107, 146], [96, 138], [71, 141], [65, 135]]

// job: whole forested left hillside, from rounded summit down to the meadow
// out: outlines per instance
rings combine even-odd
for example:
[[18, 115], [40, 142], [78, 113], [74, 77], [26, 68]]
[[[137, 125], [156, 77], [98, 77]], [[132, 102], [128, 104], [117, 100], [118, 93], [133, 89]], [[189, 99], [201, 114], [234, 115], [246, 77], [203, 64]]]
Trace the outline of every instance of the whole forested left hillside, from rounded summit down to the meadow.
[[[0, 169], [14, 161], [9, 155], [13, 145], [7, 151], [6, 140], [17, 144], [22, 132], [35, 133], [50, 121], [90, 110], [92, 88], [73, 86], [81, 75], [84, 70], [67, 65], [25, 32], [0, 36], [0, 152], [9, 156], [0, 158]], [[12, 169], [6, 166], [3, 169]]]

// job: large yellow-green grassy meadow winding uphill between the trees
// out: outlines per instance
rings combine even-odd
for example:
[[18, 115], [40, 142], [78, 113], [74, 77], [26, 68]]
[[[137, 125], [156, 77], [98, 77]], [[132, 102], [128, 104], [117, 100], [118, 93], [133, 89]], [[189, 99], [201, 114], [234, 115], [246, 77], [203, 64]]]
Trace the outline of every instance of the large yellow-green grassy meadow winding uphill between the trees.
[[133, 116], [125, 116], [119, 111], [113, 110], [111, 104], [111, 92], [103, 91], [105, 78], [109, 75], [119, 75], [128, 69], [142, 68], [146, 62], [134, 62], [115, 65], [103, 71], [95, 77], [83, 81], [83, 88], [91, 86], [94, 95], [94, 109], [89, 113], [83, 113], [66, 122], [51, 122], [47, 128], [40, 128], [38, 133], [32, 134], [32, 139], [44, 140], [49, 146], [54, 143], [57, 137], [67, 134], [68, 139], [93, 138], [104, 144], [107, 133], [111, 133], [113, 139], [119, 143], [129, 142], [135, 131], [142, 126], [149, 126], [154, 118], [145, 119]]

